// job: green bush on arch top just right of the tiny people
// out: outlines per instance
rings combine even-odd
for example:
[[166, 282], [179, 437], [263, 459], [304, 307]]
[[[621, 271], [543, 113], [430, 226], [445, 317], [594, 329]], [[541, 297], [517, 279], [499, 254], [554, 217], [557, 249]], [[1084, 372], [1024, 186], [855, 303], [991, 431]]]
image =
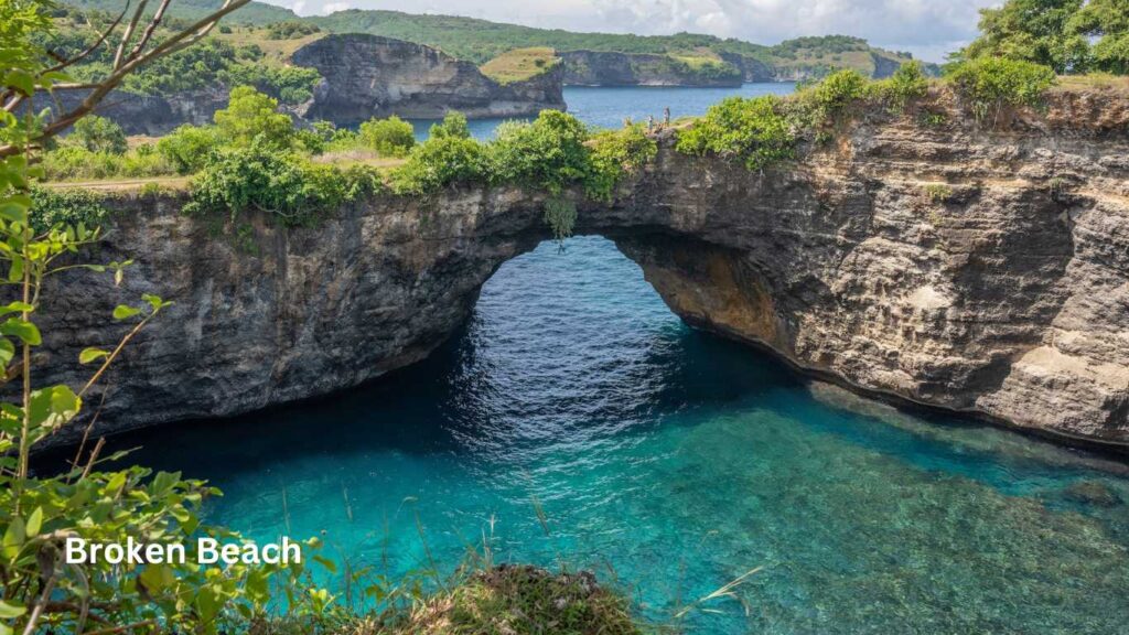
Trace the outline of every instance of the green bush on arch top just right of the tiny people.
[[749, 169], [765, 167], [793, 156], [796, 137], [781, 113], [779, 97], [729, 97], [715, 104], [692, 128], [679, 133], [683, 154], [716, 155], [741, 160]]

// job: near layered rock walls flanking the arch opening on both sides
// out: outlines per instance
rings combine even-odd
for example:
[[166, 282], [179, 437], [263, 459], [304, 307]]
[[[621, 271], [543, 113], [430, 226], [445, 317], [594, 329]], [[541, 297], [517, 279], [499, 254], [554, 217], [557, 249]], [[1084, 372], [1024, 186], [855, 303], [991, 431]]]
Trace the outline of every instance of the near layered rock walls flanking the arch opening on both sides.
[[[998, 129], [945, 96], [929, 107], [948, 123], [856, 122], [764, 174], [682, 156], [664, 131], [615, 202], [580, 206], [578, 233], [615, 240], [688, 322], [811, 373], [1129, 443], [1129, 97], [1058, 94]], [[379, 198], [318, 229], [260, 223], [247, 255], [176, 199], [126, 199], [99, 255], [138, 264], [120, 290], [63, 282], [43, 311], [59, 372], [41, 379], [76, 382], [78, 351], [123, 330], [103, 316], [143, 292], [177, 304], [113, 371], [103, 429], [376, 377], [426, 356], [498, 266], [548, 237], [542, 202]]]

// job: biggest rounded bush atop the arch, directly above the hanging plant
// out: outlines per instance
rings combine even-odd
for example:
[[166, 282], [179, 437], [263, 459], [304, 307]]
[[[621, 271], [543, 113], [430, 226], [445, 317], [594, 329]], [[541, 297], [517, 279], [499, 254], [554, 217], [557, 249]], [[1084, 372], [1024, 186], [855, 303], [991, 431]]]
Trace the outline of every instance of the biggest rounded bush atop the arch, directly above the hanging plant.
[[491, 174], [497, 183], [559, 194], [564, 186], [587, 177], [587, 139], [580, 120], [558, 111], [542, 111], [532, 123], [504, 123], [488, 147]]

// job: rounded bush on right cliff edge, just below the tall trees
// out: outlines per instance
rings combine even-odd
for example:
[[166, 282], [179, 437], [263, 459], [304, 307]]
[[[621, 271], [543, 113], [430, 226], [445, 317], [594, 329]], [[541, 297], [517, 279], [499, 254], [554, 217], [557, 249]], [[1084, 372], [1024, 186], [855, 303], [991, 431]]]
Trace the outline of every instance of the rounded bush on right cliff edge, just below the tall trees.
[[996, 121], [1005, 107], [1038, 106], [1054, 85], [1049, 67], [1004, 58], [980, 58], [949, 70], [948, 79], [971, 102], [972, 114]]

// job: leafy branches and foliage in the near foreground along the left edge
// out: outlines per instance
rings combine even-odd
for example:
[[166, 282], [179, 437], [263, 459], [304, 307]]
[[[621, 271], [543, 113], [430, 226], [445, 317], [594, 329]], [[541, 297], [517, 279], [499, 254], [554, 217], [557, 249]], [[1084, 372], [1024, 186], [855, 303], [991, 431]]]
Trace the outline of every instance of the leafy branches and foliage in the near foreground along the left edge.
[[[56, 70], [50, 70], [58, 63], [29, 46], [29, 36], [51, 27], [52, 6], [37, 0], [0, 0], [0, 103], [5, 106], [0, 110], [0, 264], [9, 289], [7, 303], [0, 305], [0, 383], [15, 384], [5, 391], [10, 398], [0, 402], [0, 635], [16, 629], [25, 635], [245, 632], [246, 620], [262, 615], [272, 584], [282, 584], [299, 611], [321, 612], [332, 601], [321, 590], [294, 593], [288, 584], [298, 571], [279, 565], [201, 567], [191, 559], [186, 564], [114, 565], [105, 558], [67, 564], [64, 543], [71, 538], [91, 542], [132, 538], [191, 546], [196, 536], [238, 536], [200, 523], [199, 506], [215, 494], [202, 482], [183, 480], [175, 473], [155, 475], [140, 467], [102, 471], [102, 461], [122, 456], [102, 456], [102, 440], [90, 447], [84, 438], [71, 469], [62, 475], [40, 478], [29, 470], [33, 447], [76, 420], [84, 400], [124, 347], [169, 305], [155, 295], [119, 305], [106, 316], [124, 324], [116, 345], [90, 347], [79, 354], [78, 362], [91, 366], [86, 382], [80, 386], [34, 384], [32, 369], [38, 363], [34, 351], [43, 343], [37, 316], [44, 295], [58, 288], [46, 281], [85, 269], [107, 273], [121, 284], [129, 264], [81, 260], [89, 253], [84, 247], [102, 235], [86, 223], [40, 227], [42, 219], [34, 216], [29, 195], [41, 172], [32, 164], [34, 150], [81, 121], [100, 98], [99, 90], [108, 92], [115, 81], [151, 59], [141, 53], [149, 29], [135, 31], [146, 3], [139, 2], [122, 35], [114, 63], [117, 78], [95, 88], [82, 106], [44, 124], [30, 108], [23, 108], [23, 116], [16, 112], [20, 104], [34, 105], [34, 95], [62, 80]], [[150, 26], [160, 20], [167, 5], [164, 1], [157, 8]], [[233, 1], [221, 11], [238, 6], [242, 2]], [[194, 41], [201, 24], [207, 28], [215, 24], [216, 14], [211, 19], [173, 38], [173, 46]]]

